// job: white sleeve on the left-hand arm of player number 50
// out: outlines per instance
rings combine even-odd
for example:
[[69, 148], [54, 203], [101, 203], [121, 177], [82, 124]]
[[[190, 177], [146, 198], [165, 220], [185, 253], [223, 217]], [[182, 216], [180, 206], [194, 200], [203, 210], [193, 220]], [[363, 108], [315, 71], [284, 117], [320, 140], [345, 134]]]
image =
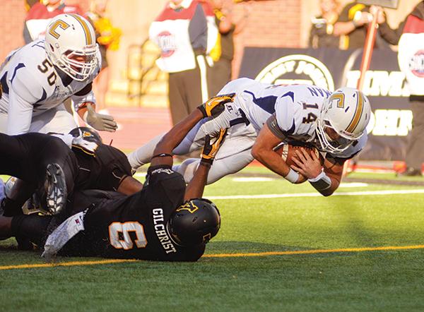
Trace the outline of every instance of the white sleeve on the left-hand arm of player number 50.
[[27, 133], [30, 130], [33, 104], [45, 95], [45, 90], [40, 85], [32, 83], [34, 80], [28, 75], [28, 71], [22, 69], [11, 79], [6, 130], [8, 135]]

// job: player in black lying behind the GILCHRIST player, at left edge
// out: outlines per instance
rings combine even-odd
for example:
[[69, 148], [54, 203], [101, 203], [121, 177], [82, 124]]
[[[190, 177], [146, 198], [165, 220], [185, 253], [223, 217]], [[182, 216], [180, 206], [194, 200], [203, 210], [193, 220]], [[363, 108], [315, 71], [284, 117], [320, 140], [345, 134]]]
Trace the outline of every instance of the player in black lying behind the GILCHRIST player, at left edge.
[[[40, 184], [46, 184], [47, 187], [48, 182], [52, 181], [55, 183], [50, 183], [53, 186], [49, 187], [51, 191], [44, 193], [55, 195], [55, 191], [58, 191], [60, 198], [53, 198], [51, 205], [48, 205], [47, 198], [41, 198], [37, 200], [41, 205], [31, 208], [57, 214], [73, 188], [118, 191], [126, 195], [141, 190], [143, 184], [131, 176], [131, 166], [126, 155], [111, 145], [103, 144], [97, 131], [78, 127], [69, 134], [68, 138], [54, 134], [69, 141], [69, 146], [58, 138], [39, 134], [1, 136], [1, 150], [6, 152], [2, 152], [0, 160], [6, 168], [2, 170], [0, 167], [0, 172], [20, 178], [13, 180], [13, 186], [6, 183], [8, 191], [1, 203], [5, 216], [21, 215], [23, 203], [32, 196], [35, 186], [38, 188], [35, 196], [46, 197], [40, 194], [40, 191], [44, 191]], [[47, 165], [49, 169], [45, 181], [46, 174], [43, 172]]]

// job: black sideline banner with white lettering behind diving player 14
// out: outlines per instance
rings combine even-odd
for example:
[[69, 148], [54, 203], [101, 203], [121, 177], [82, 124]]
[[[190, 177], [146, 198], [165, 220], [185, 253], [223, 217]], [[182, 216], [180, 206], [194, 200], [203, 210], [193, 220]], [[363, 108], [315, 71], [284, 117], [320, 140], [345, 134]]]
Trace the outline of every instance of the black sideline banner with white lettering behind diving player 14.
[[[341, 86], [356, 88], [361, 59], [362, 49], [246, 47], [239, 77], [275, 84], [306, 83], [330, 91]], [[363, 92], [371, 102], [372, 116], [360, 159], [404, 160], [412, 112], [396, 52], [374, 50]]]

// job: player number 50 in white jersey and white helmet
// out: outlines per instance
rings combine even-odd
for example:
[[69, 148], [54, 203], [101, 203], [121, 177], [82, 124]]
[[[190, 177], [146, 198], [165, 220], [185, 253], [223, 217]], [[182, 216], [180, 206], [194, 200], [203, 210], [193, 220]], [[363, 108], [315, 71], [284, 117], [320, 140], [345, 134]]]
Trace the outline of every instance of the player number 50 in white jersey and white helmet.
[[92, 81], [101, 56], [88, 20], [76, 14], [52, 18], [45, 40], [35, 40], [6, 57], [0, 68], [0, 132], [69, 133], [76, 128], [64, 101], [87, 124], [115, 131], [112, 116], [95, 112]]

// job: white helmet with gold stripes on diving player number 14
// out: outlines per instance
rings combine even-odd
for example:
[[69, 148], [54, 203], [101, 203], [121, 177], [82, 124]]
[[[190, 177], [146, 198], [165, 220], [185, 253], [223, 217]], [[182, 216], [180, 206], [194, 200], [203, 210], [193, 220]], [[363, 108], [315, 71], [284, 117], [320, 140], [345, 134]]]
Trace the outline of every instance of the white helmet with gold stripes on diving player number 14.
[[339, 154], [365, 133], [371, 106], [367, 97], [353, 88], [339, 88], [322, 105], [317, 118], [317, 148]]

